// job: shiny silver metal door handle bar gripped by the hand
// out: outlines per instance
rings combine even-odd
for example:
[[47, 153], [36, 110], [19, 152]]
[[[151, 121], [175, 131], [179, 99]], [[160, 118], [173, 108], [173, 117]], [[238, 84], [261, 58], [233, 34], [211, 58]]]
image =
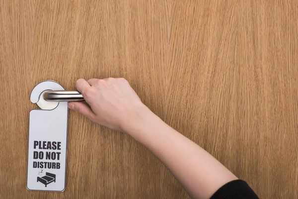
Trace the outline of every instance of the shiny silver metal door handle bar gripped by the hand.
[[46, 101], [84, 101], [77, 91], [47, 91], [43, 94]]

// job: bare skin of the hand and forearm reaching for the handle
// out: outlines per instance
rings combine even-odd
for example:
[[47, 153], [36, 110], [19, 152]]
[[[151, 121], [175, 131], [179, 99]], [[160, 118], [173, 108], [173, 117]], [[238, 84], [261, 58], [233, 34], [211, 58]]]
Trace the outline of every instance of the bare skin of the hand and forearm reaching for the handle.
[[237, 180], [207, 151], [151, 112], [125, 79], [79, 79], [75, 88], [90, 107], [71, 102], [69, 108], [143, 144], [192, 198], [209, 199], [224, 184]]

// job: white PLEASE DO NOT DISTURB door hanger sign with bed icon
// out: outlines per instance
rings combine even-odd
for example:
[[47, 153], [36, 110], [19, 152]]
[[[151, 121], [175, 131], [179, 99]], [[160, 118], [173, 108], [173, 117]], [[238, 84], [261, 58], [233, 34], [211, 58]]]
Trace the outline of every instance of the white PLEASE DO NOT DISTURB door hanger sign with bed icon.
[[[54, 81], [41, 82], [32, 90], [30, 101], [43, 108], [40, 105], [43, 100], [41, 94], [49, 90], [62, 91], [64, 88]], [[66, 176], [67, 101], [45, 103], [51, 103], [52, 109], [33, 109], [29, 114], [27, 189], [63, 192]]]

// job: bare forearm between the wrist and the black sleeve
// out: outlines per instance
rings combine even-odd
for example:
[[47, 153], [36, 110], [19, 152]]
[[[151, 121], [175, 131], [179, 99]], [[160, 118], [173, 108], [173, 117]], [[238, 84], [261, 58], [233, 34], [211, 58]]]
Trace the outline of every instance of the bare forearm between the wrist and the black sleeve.
[[237, 179], [197, 144], [165, 124], [150, 111], [138, 115], [127, 133], [146, 146], [175, 176], [192, 198], [210, 198]]

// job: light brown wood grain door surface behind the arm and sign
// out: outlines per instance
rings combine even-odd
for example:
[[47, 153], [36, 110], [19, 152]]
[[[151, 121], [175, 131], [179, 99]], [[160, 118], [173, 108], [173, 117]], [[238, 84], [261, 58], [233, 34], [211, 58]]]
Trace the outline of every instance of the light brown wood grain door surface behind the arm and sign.
[[70, 111], [66, 190], [26, 190], [36, 84], [124, 77], [260, 198], [298, 198], [297, 0], [0, 0], [0, 198], [184, 199], [142, 145]]

